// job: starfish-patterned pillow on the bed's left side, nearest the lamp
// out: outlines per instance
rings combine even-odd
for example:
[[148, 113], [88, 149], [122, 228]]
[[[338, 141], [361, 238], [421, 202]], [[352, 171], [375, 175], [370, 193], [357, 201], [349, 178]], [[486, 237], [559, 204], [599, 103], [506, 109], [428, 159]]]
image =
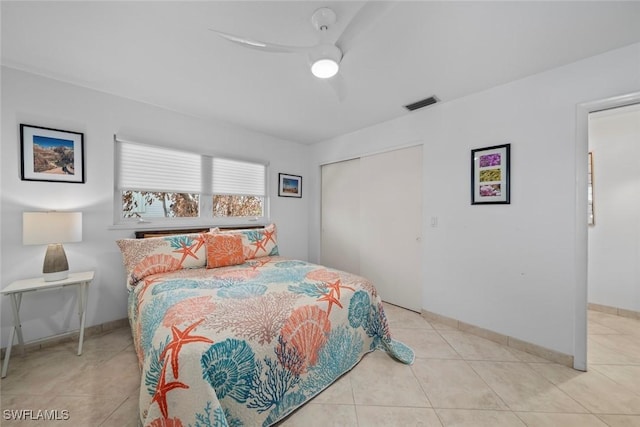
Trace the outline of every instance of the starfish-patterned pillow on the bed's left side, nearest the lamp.
[[127, 284], [135, 286], [156, 273], [204, 267], [207, 264], [205, 234], [117, 240], [127, 272]]

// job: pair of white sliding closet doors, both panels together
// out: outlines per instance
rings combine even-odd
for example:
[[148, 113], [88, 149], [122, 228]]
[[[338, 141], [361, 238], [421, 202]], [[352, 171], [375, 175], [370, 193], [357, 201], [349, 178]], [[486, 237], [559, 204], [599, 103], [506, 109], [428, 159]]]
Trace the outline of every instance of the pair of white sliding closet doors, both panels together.
[[420, 311], [421, 231], [421, 146], [322, 167], [322, 264], [360, 274], [384, 301]]

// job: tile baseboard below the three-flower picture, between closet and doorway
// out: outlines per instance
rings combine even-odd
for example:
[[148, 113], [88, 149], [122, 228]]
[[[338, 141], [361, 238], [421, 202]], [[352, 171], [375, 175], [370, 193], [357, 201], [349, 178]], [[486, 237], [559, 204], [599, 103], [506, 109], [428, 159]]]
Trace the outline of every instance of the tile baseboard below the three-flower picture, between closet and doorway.
[[427, 310], [422, 310], [422, 317], [427, 320], [442, 323], [460, 331], [468, 332], [472, 335], [479, 336], [481, 338], [488, 339], [489, 341], [496, 342], [498, 344], [511, 347], [516, 350], [524, 351], [525, 353], [532, 354], [534, 356], [541, 357], [550, 362], [558, 363], [573, 368], [573, 356], [560, 353], [559, 351], [551, 350], [546, 347], [542, 347], [537, 344], [522, 341], [517, 338], [503, 335], [498, 332], [491, 331], [489, 329], [481, 328], [479, 326], [472, 325], [470, 323], [461, 322], [451, 317], [443, 316], [441, 314], [432, 313]]

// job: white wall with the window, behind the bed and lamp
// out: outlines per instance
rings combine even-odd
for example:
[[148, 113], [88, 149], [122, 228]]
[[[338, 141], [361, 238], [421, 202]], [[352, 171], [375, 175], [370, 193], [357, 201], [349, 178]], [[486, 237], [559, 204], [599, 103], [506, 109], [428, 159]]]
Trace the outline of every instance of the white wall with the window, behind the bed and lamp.
[[[133, 230], [113, 230], [113, 135], [191, 148], [203, 153], [270, 162], [271, 220], [278, 225], [282, 255], [308, 257], [308, 200], [277, 197], [278, 172], [306, 178], [307, 146], [251, 132], [222, 122], [204, 121], [128, 99], [2, 68], [1, 286], [41, 274], [45, 247], [22, 245], [22, 212], [80, 210], [83, 241], [66, 244], [71, 271], [96, 270], [90, 289], [87, 326], [125, 318], [127, 292], [122, 258], [115, 240]], [[19, 124], [83, 132], [85, 184], [20, 180]], [[305, 182], [306, 184], [306, 182]], [[305, 187], [303, 187], [305, 188]], [[73, 290], [26, 295], [21, 317], [25, 341], [78, 327]], [[12, 324], [2, 298], [2, 347]]]

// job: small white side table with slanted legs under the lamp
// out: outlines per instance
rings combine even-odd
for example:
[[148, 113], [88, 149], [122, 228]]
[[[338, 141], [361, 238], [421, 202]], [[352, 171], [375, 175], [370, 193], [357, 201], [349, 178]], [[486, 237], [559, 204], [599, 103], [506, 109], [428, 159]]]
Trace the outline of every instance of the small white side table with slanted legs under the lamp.
[[0, 291], [0, 294], [11, 297], [11, 308], [13, 311], [13, 328], [9, 334], [9, 344], [2, 363], [2, 378], [7, 376], [9, 368], [9, 357], [11, 357], [11, 347], [13, 339], [18, 334], [18, 343], [22, 347], [24, 354], [24, 340], [22, 338], [22, 325], [20, 323], [20, 304], [22, 294], [26, 292], [37, 292], [47, 289], [63, 288], [65, 286], [77, 286], [78, 290], [78, 316], [80, 316], [80, 342], [78, 343], [78, 356], [82, 354], [82, 342], [84, 341], [84, 321], [87, 298], [89, 296], [89, 284], [93, 281], [94, 271], [83, 271], [81, 273], [69, 273], [69, 277], [55, 282], [45, 282], [42, 277], [33, 279], [16, 280]]

